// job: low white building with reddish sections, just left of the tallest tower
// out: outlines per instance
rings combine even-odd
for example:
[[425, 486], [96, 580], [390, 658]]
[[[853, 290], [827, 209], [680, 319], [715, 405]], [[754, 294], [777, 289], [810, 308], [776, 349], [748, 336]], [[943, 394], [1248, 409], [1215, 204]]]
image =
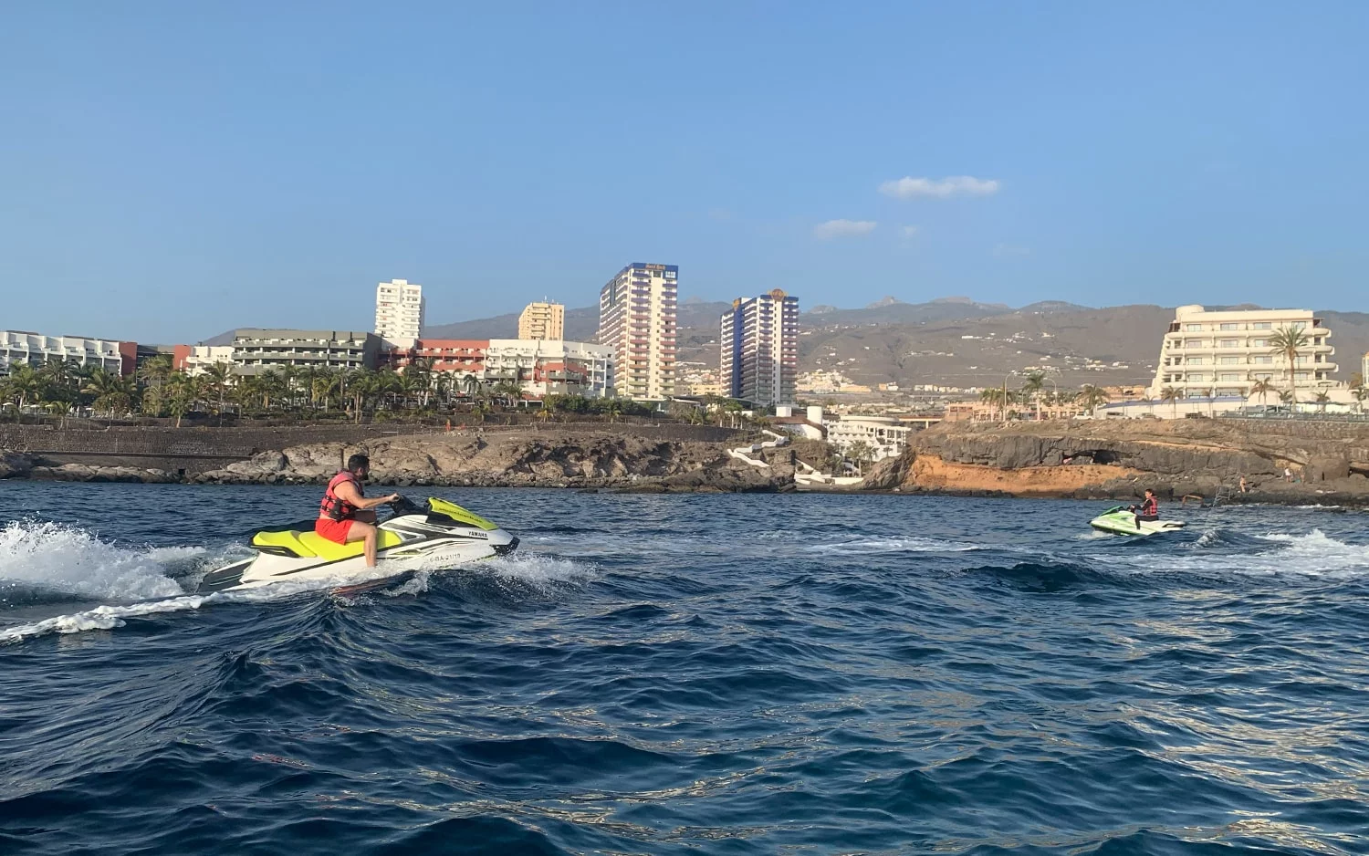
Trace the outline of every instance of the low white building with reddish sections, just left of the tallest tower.
[[491, 338], [483, 377], [512, 381], [533, 397], [613, 394], [613, 349], [561, 340]]

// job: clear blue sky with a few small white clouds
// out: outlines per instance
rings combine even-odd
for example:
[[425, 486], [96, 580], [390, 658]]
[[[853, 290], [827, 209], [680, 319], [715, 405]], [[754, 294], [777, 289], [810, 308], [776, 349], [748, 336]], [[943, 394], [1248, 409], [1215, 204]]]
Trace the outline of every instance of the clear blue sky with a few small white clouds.
[[1369, 311], [1369, 4], [66, 3], [0, 27], [0, 329], [597, 301]]

